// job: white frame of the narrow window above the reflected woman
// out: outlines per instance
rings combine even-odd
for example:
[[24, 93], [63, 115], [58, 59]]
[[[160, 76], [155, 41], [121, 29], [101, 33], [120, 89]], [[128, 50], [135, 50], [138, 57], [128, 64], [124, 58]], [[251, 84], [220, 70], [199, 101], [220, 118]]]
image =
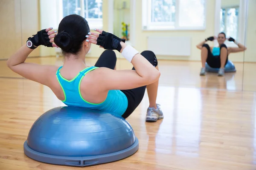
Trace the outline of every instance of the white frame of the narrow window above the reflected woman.
[[[221, 0], [215, 0], [215, 36], [220, 32], [220, 10], [221, 10]], [[245, 44], [246, 37], [246, 27], [247, 27], [247, 15], [248, 15], [248, 0], [240, 0], [239, 3], [239, 28], [238, 28], [238, 41]], [[226, 41], [227, 47], [238, 47], [234, 42]], [[218, 46], [218, 42], [214, 41], [214, 45]]]

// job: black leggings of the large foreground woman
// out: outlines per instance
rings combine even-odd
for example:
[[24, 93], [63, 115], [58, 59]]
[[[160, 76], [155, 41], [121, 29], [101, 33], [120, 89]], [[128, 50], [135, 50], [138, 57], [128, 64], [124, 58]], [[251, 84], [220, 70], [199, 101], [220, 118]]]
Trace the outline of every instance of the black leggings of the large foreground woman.
[[[157, 58], [152, 51], [143, 51], [141, 53], [143, 57], [145, 57], [152, 65], [157, 66]], [[114, 69], [116, 66], [116, 54], [112, 50], [105, 50], [98, 61], [95, 64], [96, 67], [107, 67], [110, 69]], [[132, 70], [135, 70], [133, 67]], [[123, 118], [127, 118], [133, 113], [133, 111], [140, 105], [144, 94], [145, 94], [146, 86], [142, 86], [139, 88], [133, 88], [129, 90], [121, 90], [128, 100], [128, 107], [125, 113], [122, 115]]]

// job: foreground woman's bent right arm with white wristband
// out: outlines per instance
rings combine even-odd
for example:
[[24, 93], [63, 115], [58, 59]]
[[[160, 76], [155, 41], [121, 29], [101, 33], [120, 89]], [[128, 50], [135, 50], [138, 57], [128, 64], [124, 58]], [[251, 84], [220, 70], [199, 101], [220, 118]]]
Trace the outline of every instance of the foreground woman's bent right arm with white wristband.
[[[102, 33], [102, 31], [98, 31]], [[99, 34], [91, 33], [89, 42], [97, 44], [97, 37], [99, 37]], [[109, 43], [112, 44], [112, 42]], [[109, 68], [96, 69], [94, 73], [96, 77], [100, 77], [96, 81], [99, 81], [98, 83], [102, 84], [102, 89], [132, 89], [149, 85], [159, 79], [160, 72], [148, 62], [145, 57], [131, 46], [126, 45], [125, 42], [121, 41], [120, 45], [121, 48], [119, 52], [134, 65], [135, 70], [112, 70]], [[104, 45], [102, 47], [104, 47]]]

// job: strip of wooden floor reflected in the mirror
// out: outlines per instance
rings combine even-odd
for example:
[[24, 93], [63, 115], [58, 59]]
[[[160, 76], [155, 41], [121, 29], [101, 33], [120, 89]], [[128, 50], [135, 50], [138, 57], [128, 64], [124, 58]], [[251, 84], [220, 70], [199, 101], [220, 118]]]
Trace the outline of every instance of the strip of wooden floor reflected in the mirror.
[[[120, 57], [120, 56], [118, 56]], [[122, 57], [122, 56], [121, 56]], [[97, 58], [87, 58], [87, 65], [94, 65]], [[61, 66], [63, 64], [63, 58], [55, 57], [41, 57], [31, 58], [28, 62], [35, 62], [41, 64], [54, 64]], [[244, 64], [235, 63], [236, 72], [226, 73], [225, 77], [218, 77], [216, 73], [207, 73], [206, 76], [200, 77], [201, 63], [195, 61], [171, 61], [171, 60], [159, 60], [159, 68], [161, 71], [160, 85], [175, 86], [175, 87], [192, 87], [192, 88], [213, 88], [213, 89], [227, 89], [227, 90], [239, 90], [243, 88], [243, 76], [244, 76]], [[253, 65], [246, 67], [248, 69], [254, 69]], [[117, 59], [116, 69], [131, 69], [132, 65], [126, 59]], [[256, 68], [256, 67], [255, 67]], [[251, 75], [251, 74], [250, 74]], [[19, 77], [19, 75], [13, 73], [6, 67], [6, 61], [0, 60], [0, 77]], [[248, 75], [245, 80], [249, 79]], [[245, 82], [247, 86], [252, 87], [256, 84], [256, 80], [250, 79]], [[247, 88], [251, 90], [252, 88]], [[246, 90], [246, 89], [244, 89]], [[254, 89], [256, 91], [256, 88]]]

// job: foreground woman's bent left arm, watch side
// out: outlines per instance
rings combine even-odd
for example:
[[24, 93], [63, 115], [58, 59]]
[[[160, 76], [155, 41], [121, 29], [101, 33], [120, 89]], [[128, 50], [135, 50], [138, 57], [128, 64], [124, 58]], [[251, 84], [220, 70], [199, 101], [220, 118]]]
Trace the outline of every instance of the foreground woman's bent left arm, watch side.
[[[53, 42], [52, 38], [55, 37], [55, 32], [54, 31], [48, 32], [50, 30], [51, 30], [51, 28], [46, 29], [46, 32], [47, 32], [46, 34], [49, 35], [49, 42], [50, 42], [50, 43], [47, 42], [48, 46], [49, 46], [49, 44], [51, 44], [52, 46], [56, 47], [55, 44], [52, 44], [52, 42]], [[33, 42], [33, 40], [32, 40], [32, 42]], [[38, 43], [33, 42], [33, 44], [41, 45], [40, 42], [38, 42]], [[6, 64], [12, 71], [14, 71], [17, 74], [20, 74], [22, 77], [25, 77], [26, 79], [30, 79], [35, 82], [39, 82], [44, 85], [48, 85], [49, 72], [52, 70], [55, 70], [56, 66], [38, 65], [35, 63], [26, 63], [25, 62], [26, 58], [32, 51], [33, 51], [33, 49], [30, 49], [29, 47], [27, 47], [27, 45], [23, 45], [18, 51], [16, 51], [7, 60]]]

